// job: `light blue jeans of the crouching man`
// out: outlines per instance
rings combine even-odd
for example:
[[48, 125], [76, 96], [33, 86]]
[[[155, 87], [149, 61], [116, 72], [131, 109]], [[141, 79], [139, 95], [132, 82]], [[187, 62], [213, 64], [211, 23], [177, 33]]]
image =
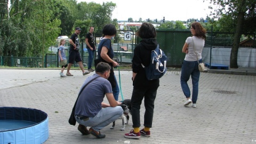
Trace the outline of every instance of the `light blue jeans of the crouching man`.
[[102, 108], [97, 115], [90, 117], [87, 121], [78, 119], [76, 116], [76, 121], [84, 126], [91, 126], [95, 131], [100, 131], [103, 127], [109, 125], [110, 123], [116, 121], [124, 113], [124, 110], [120, 106]]

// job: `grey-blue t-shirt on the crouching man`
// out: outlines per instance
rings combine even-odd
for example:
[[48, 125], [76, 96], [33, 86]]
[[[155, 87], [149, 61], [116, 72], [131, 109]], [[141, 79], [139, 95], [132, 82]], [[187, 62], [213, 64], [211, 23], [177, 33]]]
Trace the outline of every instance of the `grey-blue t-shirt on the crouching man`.
[[[97, 76], [99, 75], [94, 74], [87, 77], [83, 86]], [[103, 77], [94, 79], [94, 81], [85, 87], [80, 97], [78, 98], [75, 115], [84, 115], [88, 117], [94, 117], [97, 115], [98, 112], [102, 109], [101, 102], [105, 97], [105, 93], [113, 93], [110, 82]]]

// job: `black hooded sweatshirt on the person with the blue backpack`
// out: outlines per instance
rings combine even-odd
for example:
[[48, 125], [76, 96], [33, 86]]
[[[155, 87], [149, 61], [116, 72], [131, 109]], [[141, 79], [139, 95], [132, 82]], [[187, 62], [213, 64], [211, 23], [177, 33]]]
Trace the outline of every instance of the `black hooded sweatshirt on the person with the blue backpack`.
[[148, 80], [146, 71], [141, 63], [147, 67], [150, 63], [151, 51], [157, 47], [156, 38], [145, 38], [135, 47], [132, 58], [132, 71], [137, 73], [133, 81], [134, 88], [151, 89], [159, 86], [159, 79]]

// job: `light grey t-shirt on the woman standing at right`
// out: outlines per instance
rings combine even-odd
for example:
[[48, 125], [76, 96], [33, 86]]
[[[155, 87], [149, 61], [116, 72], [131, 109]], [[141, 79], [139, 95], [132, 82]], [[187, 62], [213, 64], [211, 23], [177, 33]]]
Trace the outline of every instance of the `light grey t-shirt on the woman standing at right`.
[[193, 36], [194, 45], [195, 45], [195, 49], [196, 49], [196, 53], [195, 53], [194, 46], [193, 46], [191, 38], [192, 37], [188, 37], [186, 39], [186, 43], [188, 44], [188, 53], [186, 54], [185, 60], [186, 61], [197, 61], [196, 53], [197, 53], [198, 60], [202, 59], [204, 39]]

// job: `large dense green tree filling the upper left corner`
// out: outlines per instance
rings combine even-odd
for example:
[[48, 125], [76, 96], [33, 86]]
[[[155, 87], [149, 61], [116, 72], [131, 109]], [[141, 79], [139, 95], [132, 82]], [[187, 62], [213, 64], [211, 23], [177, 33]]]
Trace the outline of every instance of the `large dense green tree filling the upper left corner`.
[[[11, 1], [9, 11], [1, 16], [0, 54], [43, 59], [60, 33], [60, 20], [54, 15], [59, 10], [57, 2]], [[4, 7], [7, 9], [7, 4]]]

